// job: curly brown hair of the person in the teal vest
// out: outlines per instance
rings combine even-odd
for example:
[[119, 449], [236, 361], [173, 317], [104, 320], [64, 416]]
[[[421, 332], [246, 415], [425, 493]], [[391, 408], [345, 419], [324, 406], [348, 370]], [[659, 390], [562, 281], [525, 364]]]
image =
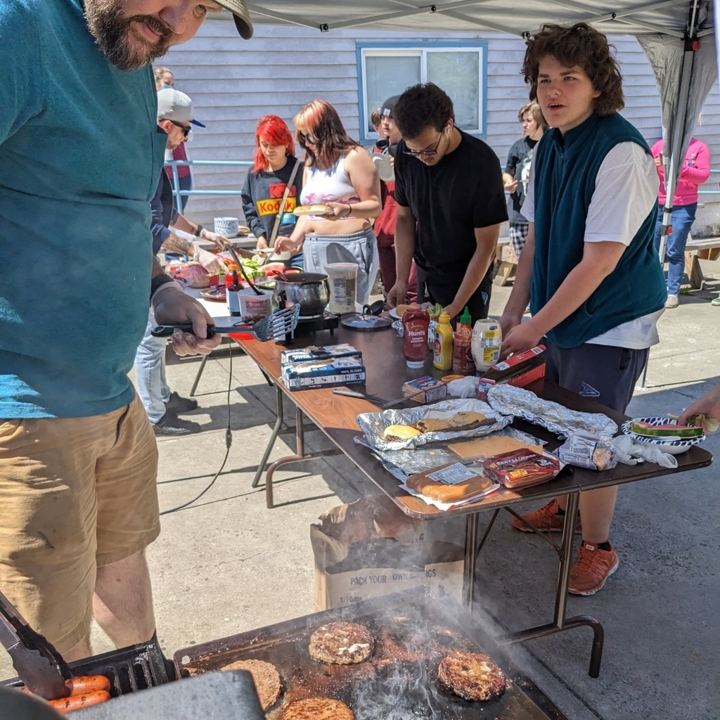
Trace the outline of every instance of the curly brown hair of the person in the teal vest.
[[593, 89], [600, 91], [594, 106], [598, 115], [609, 115], [625, 107], [623, 76], [611, 53], [611, 48], [615, 48], [608, 44], [608, 38], [602, 32], [585, 22], [571, 27], [545, 24], [526, 41], [526, 45], [528, 48], [521, 72], [526, 83], [530, 84], [532, 100], [537, 97], [540, 60], [552, 55], [566, 68], [576, 65], [582, 68]]

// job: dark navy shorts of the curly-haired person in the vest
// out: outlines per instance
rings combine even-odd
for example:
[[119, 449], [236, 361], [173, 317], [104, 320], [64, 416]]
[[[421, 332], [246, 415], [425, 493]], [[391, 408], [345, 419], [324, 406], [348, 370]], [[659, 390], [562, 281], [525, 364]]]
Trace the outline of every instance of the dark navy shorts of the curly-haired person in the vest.
[[647, 362], [649, 348], [631, 350], [592, 343], [559, 348], [547, 338], [542, 343], [547, 348], [541, 357], [545, 359], [545, 377], [550, 382], [625, 412]]

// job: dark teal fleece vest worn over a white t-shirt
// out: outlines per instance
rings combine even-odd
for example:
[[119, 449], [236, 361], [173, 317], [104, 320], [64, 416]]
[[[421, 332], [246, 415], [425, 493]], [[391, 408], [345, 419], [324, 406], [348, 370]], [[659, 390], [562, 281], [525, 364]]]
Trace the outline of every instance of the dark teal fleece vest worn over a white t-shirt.
[[[534, 156], [535, 257], [530, 310], [539, 312], [582, 260], [585, 220], [595, 178], [606, 155], [618, 143], [647, 143], [617, 113], [588, 120], [568, 130], [546, 132]], [[618, 197], [618, 205], [626, 200]], [[547, 333], [561, 348], [575, 348], [665, 305], [667, 290], [652, 245], [657, 202], [626, 248], [616, 269], [562, 323]]]

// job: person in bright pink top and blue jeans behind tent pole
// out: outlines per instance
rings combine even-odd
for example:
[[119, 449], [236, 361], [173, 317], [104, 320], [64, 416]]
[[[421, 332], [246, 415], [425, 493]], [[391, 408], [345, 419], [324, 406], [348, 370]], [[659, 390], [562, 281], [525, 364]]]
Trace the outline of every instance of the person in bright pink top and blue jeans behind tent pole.
[[[662, 140], [650, 148], [657, 174], [660, 176], [660, 192], [657, 201], [657, 225], [655, 225], [655, 249], [660, 250], [660, 226], [662, 207], [665, 205], [665, 168], [662, 166]], [[672, 235], [667, 236], [667, 302], [665, 307], [678, 307], [680, 282], [685, 270], [685, 243], [698, 209], [698, 185], [710, 177], [710, 150], [702, 140], [692, 138], [683, 161], [675, 197], [672, 199]]]

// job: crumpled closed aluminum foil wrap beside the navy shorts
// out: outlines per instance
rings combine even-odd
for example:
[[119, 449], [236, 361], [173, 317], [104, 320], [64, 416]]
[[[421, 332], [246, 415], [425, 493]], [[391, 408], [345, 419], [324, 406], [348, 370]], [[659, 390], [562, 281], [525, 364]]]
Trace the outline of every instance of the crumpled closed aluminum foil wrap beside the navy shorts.
[[493, 385], [487, 391], [487, 400], [498, 413], [523, 418], [563, 438], [572, 433], [611, 438], [618, 431], [616, 423], [603, 413], [579, 413], [552, 400], [542, 400], [522, 387]]

